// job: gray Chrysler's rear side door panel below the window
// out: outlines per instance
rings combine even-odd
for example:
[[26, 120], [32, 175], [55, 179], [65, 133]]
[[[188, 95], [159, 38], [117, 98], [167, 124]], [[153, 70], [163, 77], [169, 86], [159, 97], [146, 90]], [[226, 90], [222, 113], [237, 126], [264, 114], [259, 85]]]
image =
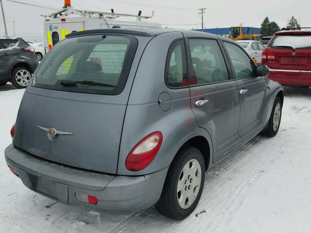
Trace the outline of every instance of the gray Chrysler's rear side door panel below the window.
[[[190, 87], [190, 93], [191, 107], [197, 123], [206, 129], [212, 138], [213, 161], [216, 162], [240, 144], [238, 134], [240, 104], [237, 84], [232, 80]], [[195, 101], [201, 99], [208, 102], [203, 106], [195, 106]]]

